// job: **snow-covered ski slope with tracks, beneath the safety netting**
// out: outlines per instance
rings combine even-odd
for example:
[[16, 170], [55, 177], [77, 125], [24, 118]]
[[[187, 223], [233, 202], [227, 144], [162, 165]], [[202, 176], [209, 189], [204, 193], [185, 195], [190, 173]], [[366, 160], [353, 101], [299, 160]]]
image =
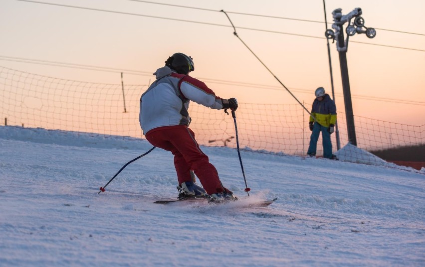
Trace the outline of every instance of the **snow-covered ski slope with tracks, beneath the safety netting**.
[[[151, 147], [0, 127], [0, 266], [425, 266], [424, 174], [242, 151], [250, 199], [274, 204], [164, 206], [176, 175], [155, 149], [98, 194]], [[246, 196], [237, 151], [203, 150]]]

